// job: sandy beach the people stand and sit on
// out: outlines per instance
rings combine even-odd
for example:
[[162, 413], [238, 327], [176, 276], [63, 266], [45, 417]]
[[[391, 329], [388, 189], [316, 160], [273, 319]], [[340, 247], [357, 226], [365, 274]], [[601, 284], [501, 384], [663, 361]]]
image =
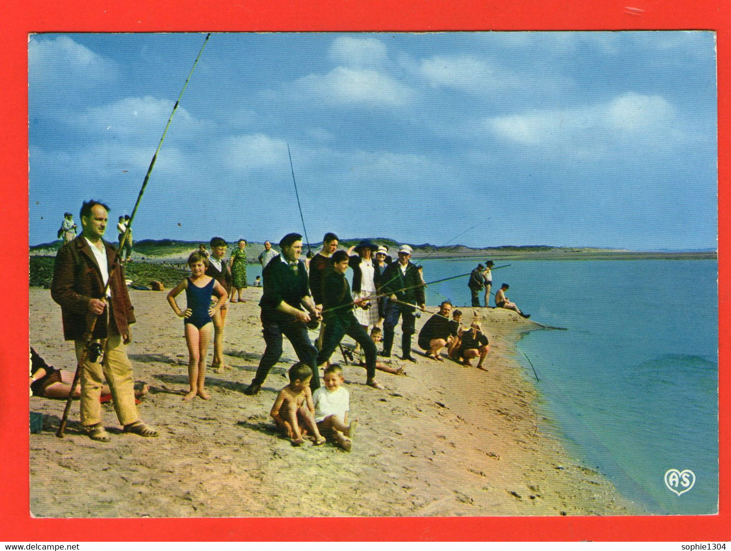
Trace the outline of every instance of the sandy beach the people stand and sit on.
[[[56, 368], [73, 370], [61, 309], [48, 289], [30, 289], [31, 346]], [[66, 438], [55, 432], [64, 402], [30, 398], [44, 414], [30, 437], [31, 513], [35, 517], [311, 517], [623, 515], [641, 510], [598, 472], [570, 457], [517, 358], [515, 343], [539, 326], [515, 313], [462, 308], [491, 339], [488, 371], [417, 355], [406, 376], [377, 373], [386, 391], [366, 387], [366, 371], [344, 366], [351, 453], [326, 444], [292, 447], [268, 416], [295, 361], [285, 339], [281, 362], [262, 392], [243, 394], [264, 351], [261, 289], [230, 305], [224, 353], [231, 369], [208, 371], [212, 399], [181, 400], [187, 388], [183, 323], [165, 292], [130, 295], [137, 323], [128, 354], [150, 393], [140, 416], [159, 438], [121, 433], [103, 406], [112, 441], [79, 432], [78, 402]], [[436, 308], [432, 308], [436, 310]], [[417, 331], [428, 314], [417, 319]], [[314, 335], [313, 335], [314, 336]], [[347, 338], [346, 338], [347, 339]], [[414, 338], [414, 349], [415, 346]], [[400, 343], [398, 335], [395, 339]], [[398, 346], [395, 352], [400, 352]], [[212, 350], [209, 351], [209, 360]], [[339, 353], [331, 361], [341, 362]], [[83, 484], [81, 481], [84, 481]]]

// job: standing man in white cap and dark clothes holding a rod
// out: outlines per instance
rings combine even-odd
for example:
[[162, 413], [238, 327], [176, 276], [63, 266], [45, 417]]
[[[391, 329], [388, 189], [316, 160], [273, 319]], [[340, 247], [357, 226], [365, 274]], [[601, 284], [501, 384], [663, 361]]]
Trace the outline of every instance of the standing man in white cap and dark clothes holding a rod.
[[398, 261], [392, 262], [381, 275], [381, 292], [388, 295], [386, 303], [386, 318], [383, 322], [383, 352], [382, 356], [390, 357], [393, 348], [394, 327], [401, 317], [401, 352], [402, 358], [415, 362], [411, 354], [411, 339], [415, 333], [416, 307], [426, 308], [424, 299], [424, 284], [419, 275], [419, 269], [410, 262], [412, 248], [402, 245], [398, 249]]

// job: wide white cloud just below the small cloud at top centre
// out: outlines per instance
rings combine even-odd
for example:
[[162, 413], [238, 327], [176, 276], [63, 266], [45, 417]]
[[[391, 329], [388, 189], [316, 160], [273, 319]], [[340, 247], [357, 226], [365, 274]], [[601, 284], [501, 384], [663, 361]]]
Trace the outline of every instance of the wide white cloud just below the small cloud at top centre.
[[327, 75], [308, 75], [295, 83], [314, 97], [336, 104], [400, 106], [414, 91], [389, 75], [374, 69], [338, 66]]

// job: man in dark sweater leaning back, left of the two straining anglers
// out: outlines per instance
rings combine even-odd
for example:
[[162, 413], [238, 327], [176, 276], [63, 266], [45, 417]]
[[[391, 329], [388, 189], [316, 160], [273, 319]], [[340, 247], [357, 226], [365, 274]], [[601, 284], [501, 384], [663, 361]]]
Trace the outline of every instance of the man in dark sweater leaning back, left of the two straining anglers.
[[319, 320], [321, 316], [310, 296], [305, 262], [300, 259], [302, 236], [288, 233], [281, 238], [279, 248], [281, 254], [271, 259], [262, 273], [264, 292], [259, 305], [262, 308], [262, 333], [267, 346], [254, 380], [243, 391], [249, 396], [261, 390], [269, 370], [279, 362], [282, 335], [286, 335], [292, 343], [300, 362], [312, 369], [310, 388], [319, 388], [319, 373], [315, 363], [317, 350], [310, 342], [307, 324], [311, 319]]

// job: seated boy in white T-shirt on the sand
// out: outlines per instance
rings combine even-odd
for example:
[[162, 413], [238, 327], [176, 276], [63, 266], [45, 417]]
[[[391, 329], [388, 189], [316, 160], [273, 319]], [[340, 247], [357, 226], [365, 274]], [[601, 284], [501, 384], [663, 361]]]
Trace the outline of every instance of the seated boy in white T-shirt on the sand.
[[315, 390], [312, 397], [317, 428], [337, 447], [349, 452], [352, 447], [349, 437], [353, 436], [357, 422], [348, 423], [350, 395], [342, 386], [345, 382], [343, 368], [336, 363], [328, 365], [322, 380], [325, 387]]

